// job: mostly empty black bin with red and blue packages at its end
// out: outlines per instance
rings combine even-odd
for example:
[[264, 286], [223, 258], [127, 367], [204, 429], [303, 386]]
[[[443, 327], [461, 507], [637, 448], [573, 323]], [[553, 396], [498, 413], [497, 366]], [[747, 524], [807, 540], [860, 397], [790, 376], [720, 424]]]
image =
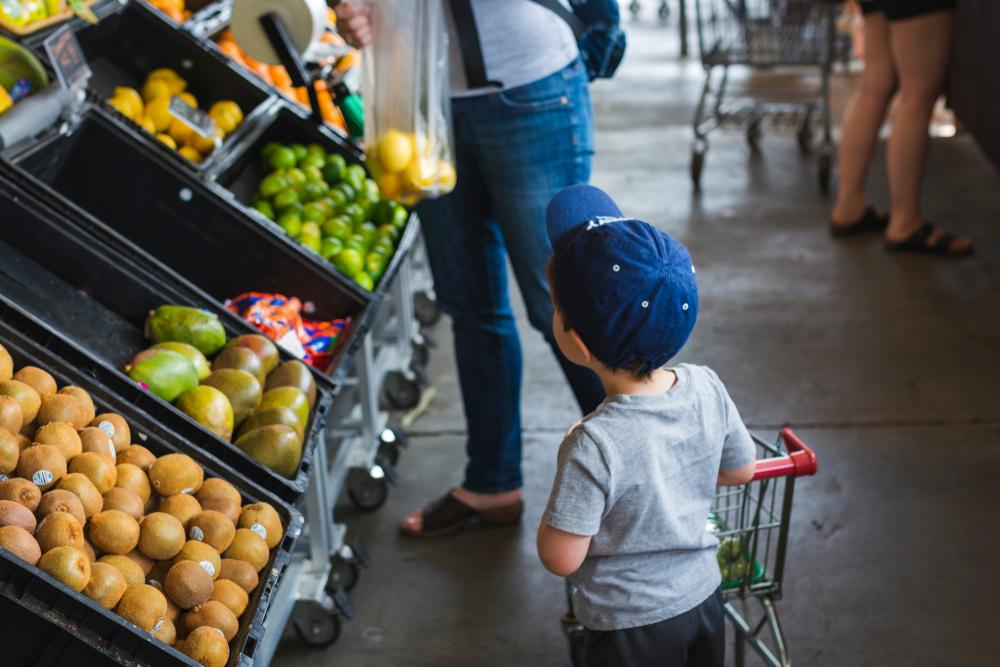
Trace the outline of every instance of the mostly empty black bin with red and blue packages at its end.
[[377, 298], [345, 289], [280, 227], [249, 218], [212, 184], [174, 168], [103, 109], [89, 106], [72, 129], [6, 158], [27, 189], [90, 214], [76, 224], [126, 256], [152, 255], [218, 302], [278, 293], [309, 304], [311, 319], [350, 317], [328, 374], [346, 373]]

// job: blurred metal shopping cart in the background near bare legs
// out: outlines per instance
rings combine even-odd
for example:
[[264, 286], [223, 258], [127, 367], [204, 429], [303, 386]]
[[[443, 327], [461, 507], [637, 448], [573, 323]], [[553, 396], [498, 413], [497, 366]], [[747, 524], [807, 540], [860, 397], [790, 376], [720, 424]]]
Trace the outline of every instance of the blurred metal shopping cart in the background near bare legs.
[[[833, 141], [830, 135], [830, 69], [834, 50], [835, 4], [829, 0], [696, 0], [698, 47], [705, 83], [694, 115], [691, 180], [701, 185], [708, 133], [723, 124], [746, 127], [757, 150], [765, 127], [795, 128], [799, 148], [812, 148], [816, 117], [822, 124], [819, 187], [830, 189]], [[726, 99], [729, 68], [818, 70], [810, 90], [784, 86], [768, 90], [756, 83], [752, 97]], [[721, 70], [721, 74], [720, 74]]]

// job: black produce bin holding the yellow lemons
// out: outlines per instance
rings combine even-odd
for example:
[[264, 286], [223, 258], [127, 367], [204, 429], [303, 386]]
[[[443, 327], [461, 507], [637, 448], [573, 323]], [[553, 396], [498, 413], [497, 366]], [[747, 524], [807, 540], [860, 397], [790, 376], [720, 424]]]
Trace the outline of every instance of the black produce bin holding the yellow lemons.
[[[266, 86], [232, 66], [224, 56], [191, 34], [178, 30], [165, 15], [142, 2], [119, 5], [118, 11], [105, 16], [97, 25], [83, 24], [76, 30], [76, 37], [93, 70], [88, 93], [101, 104], [111, 97], [116, 86], [140, 90], [150, 72], [169, 67], [184, 77], [187, 92], [195, 96], [202, 110], [207, 111], [219, 100], [232, 100], [239, 105], [244, 114], [242, 125], [200, 165], [185, 159], [117, 111], [111, 111], [122, 122], [135, 127], [146, 143], [188, 169], [201, 170], [211, 165], [240, 134], [252, 127], [274, 100]], [[44, 48], [39, 55], [47, 57]]]

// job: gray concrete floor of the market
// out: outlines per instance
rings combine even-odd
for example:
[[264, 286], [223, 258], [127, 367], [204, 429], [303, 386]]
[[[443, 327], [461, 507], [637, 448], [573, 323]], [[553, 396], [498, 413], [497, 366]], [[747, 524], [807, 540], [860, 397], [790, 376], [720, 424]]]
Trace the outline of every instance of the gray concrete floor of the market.
[[[593, 87], [593, 180], [690, 248], [702, 314], [683, 360], [714, 367], [762, 433], [796, 425], [820, 459], [796, 487], [779, 606], [796, 664], [1000, 663], [996, 171], [967, 136], [934, 142], [927, 216], [978, 242], [975, 258], [956, 262], [889, 256], [877, 238], [831, 240], [814, 160], [787, 137], [766, 137], [753, 155], [739, 131], [714, 135], [695, 195], [688, 123], [700, 66], [678, 61], [663, 29], [630, 27], [623, 70]], [[838, 81], [839, 103], [850, 85]], [[881, 159], [871, 185], [885, 205]], [[534, 529], [559, 434], [578, 415], [541, 336], [521, 324], [523, 525], [439, 542], [397, 534], [402, 514], [461, 479], [443, 323], [437, 397], [412, 429], [401, 484], [374, 515], [338, 507], [374, 560], [352, 596], [358, 616], [326, 651], [287, 639], [275, 665], [568, 664], [561, 581], [538, 564]]]

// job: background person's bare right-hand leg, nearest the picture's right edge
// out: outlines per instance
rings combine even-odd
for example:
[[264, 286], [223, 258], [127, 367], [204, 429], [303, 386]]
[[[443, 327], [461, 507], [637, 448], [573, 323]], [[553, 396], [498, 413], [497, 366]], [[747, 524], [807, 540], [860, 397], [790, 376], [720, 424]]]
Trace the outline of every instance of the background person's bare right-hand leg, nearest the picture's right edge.
[[[899, 100], [889, 137], [889, 189], [892, 195], [889, 242], [904, 241], [921, 225], [920, 194], [930, 143], [928, 125], [934, 103], [941, 95], [951, 51], [954, 11], [925, 14], [890, 24], [893, 62], [899, 75]], [[936, 229], [933, 244], [944, 231]], [[972, 246], [968, 238], [956, 238], [951, 249]]]

